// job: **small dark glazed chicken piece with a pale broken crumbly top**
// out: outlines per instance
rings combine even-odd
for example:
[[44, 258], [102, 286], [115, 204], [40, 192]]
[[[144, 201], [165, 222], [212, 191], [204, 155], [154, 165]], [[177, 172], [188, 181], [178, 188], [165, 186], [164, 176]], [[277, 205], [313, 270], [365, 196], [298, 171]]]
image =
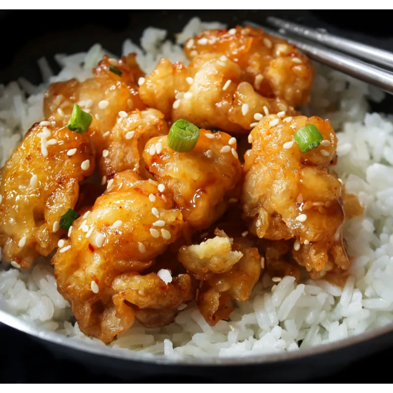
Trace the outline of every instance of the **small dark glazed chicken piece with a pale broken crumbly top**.
[[249, 240], [228, 238], [219, 229], [215, 234], [216, 237], [199, 245], [183, 246], [178, 253], [179, 261], [188, 272], [201, 280], [197, 304], [211, 326], [229, 318], [233, 300], [250, 299], [261, 274], [258, 250]]

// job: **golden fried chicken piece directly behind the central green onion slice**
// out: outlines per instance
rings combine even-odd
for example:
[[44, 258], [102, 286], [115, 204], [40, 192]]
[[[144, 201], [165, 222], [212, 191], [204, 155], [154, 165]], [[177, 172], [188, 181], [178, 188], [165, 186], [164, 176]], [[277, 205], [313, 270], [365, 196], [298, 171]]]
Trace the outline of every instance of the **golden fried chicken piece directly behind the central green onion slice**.
[[[225, 57], [225, 56], [224, 56]], [[140, 98], [172, 121], [186, 119], [199, 128], [246, 133], [255, 113], [287, 112], [293, 108], [279, 98], [267, 98], [242, 81], [242, 71], [219, 54], [195, 57], [186, 68], [166, 58], [145, 79]]]

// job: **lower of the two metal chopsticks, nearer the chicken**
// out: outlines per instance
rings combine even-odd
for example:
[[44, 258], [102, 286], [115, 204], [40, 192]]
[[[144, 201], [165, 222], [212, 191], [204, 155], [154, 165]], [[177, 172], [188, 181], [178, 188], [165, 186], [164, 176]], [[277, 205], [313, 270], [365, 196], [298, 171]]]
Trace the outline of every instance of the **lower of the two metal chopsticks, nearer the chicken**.
[[307, 43], [299, 39], [287, 37], [277, 31], [265, 28], [253, 22], [244, 22], [244, 25], [254, 28], [262, 28], [266, 33], [286, 39], [289, 43], [296, 45], [302, 52], [313, 60], [327, 64], [338, 71], [351, 75], [363, 82], [379, 87], [386, 92], [393, 94], [393, 73], [374, 65], [365, 63], [362, 60], [344, 55], [340, 52], [332, 51], [326, 47]]

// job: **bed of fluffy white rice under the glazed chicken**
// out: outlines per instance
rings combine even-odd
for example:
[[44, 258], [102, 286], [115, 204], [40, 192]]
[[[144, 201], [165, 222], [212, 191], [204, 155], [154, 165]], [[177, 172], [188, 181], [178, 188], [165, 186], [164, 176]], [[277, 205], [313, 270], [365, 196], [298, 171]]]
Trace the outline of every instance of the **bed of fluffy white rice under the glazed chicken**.
[[[194, 18], [177, 35], [176, 44], [165, 40], [165, 30], [147, 28], [140, 47], [126, 40], [123, 54], [137, 52], [146, 72], [163, 56], [187, 62], [180, 44], [204, 28], [222, 26]], [[74, 77], [84, 80], [105, 52], [96, 44], [87, 53], [57, 55], [62, 67], [57, 76], [41, 58], [44, 82], [39, 86], [24, 79], [0, 85], [1, 166], [31, 124], [43, 119], [42, 99], [48, 85]], [[348, 251], [355, 260], [344, 288], [324, 280], [297, 284], [285, 277], [272, 292], [273, 282], [265, 274], [252, 299], [239, 303], [229, 322], [210, 327], [191, 304], [175, 323], [162, 329], [136, 323], [112, 342], [113, 347], [167, 356], [246, 356], [295, 351], [393, 322], [393, 117], [368, 112], [368, 101], [381, 101], [383, 92], [330, 68], [316, 68], [311, 104], [304, 113], [331, 119], [338, 132], [337, 171], [347, 190], [365, 206], [364, 217], [345, 226]], [[334, 107], [335, 111], [326, 110]], [[72, 339], [91, 340], [74, 323], [44, 258], [28, 272], [0, 263], [0, 309]]]

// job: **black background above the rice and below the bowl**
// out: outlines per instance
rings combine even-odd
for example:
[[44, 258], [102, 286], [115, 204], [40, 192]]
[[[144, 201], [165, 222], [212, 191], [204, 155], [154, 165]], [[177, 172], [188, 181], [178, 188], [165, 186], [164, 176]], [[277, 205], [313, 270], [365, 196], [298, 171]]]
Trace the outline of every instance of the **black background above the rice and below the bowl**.
[[[386, 11], [385, 11], [386, 12]], [[193, 16], [203, 21], [220, 20], [232, 27], [249, 19], [263, 23], [267, 15], [276, 15], [314, 28], [326, 28], [330, 32], [357, 39], [370, 45], [393, 50], [391, 22], [383, 23], [383, 11], [0, 11], [1, 62], [0, 83], [20, 76], [39, 83], [36, 60], [47, 56], [56, 69], [53, 55], [87, 50], [100, 42], [114, 54], [120, 54], [122, 42], [138, 37], [146, 26], [167, 28], [170, 33], [180, 31]], [[27, 23], [28, 22], [28, 23]], [[121, 382], [105, 371], [93, 366], [83, 366], [50, 352], [39, 341], [0, 324], [0, 382]], [[329, 376], [308, 382], [379, 382], [389, 377], [388, 370], [392, 347]], [[374, 378], [378, 372], [378, 380]], [[283, 375], [285, 368], [282, 369]], [[200, 375], [185, 378], [161, 376], [143, 378], [130, 369], [123, 375], [128, 382], [225, 382], [223, 374], [217, 378]], [[232, 376], [232, 380], [236, 377]], [[239, 374], [239, 382], [245, 383]], [[254, 376], [255, 382], [263, 382], [263, 372]], [[281, 382], [281, 381], [277, 381]], [[305, 381], [306, 382], [306, 381]]]

